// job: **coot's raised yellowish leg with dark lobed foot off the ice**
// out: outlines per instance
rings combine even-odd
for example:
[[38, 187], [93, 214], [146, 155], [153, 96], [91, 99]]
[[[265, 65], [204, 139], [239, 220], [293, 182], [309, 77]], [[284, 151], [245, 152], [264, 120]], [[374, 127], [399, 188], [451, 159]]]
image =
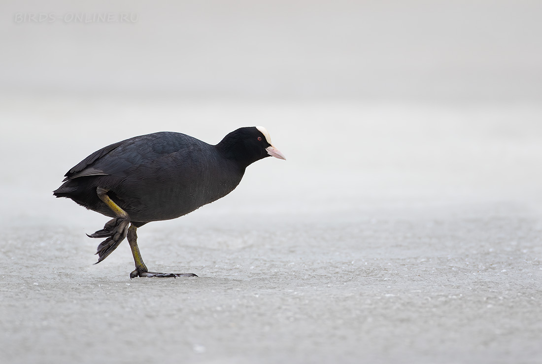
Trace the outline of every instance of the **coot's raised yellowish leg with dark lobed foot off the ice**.
[[104, 238], [107, 237], [103, 242], [98, 245], [98, 251], [96, 251], [96, 254], [98, 254], [98, 262], [94, 264], [98, 264], [101, 261], [103, 261], [109, 254], [113, 252], [113, 250], [117, 249], [117, 246], [119, 246], [120, 242], [124, 240], [126, 237], [126, 232], [128, 230], [128, 225], [130, 225], [130, 216], [126, 213], [126, 211], [122, 210], [119, 205], [115, 204], [114, 201], [107, 196], [107, 190], [105, 188], [97, 187], [96, 188], [96, 194], [98, 194], [98, 197], [100, 200], [104, 201], [104, 203], [113, 211], [115, 214], [115, 218], [109, 220], [105, 226], [104, 229], [98, 230], [92, 235], [89, 235], [91, 238]]

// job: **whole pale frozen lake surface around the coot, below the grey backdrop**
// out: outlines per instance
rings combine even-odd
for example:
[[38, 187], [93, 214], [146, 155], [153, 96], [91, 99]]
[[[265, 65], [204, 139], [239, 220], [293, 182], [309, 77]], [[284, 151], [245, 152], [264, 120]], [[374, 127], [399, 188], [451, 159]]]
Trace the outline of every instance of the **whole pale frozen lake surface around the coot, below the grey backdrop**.
[[[0, 359], [7, 363], [535, 363], [542, 349], [542, 109], [3, 95]], [[5, 123], [5, 125], [4, 125]], [[53, 191], [112, 142], [215, 144], [263, 125], [287, 161], [138, 230]]]

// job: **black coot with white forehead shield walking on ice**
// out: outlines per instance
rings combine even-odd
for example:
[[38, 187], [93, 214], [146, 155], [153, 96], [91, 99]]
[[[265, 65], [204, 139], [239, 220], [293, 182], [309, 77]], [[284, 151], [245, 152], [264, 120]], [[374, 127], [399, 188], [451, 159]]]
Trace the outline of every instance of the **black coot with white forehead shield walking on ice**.
[[137, 229], [175, 219], [233, 191], [246, 168], [257, 160], [286, 160], [262, 126], [242, 127], [218, 144], [177, 132], [140, 135], [92, 153], [65, 175], [55, 197], [111, 217], [104, 229], [88, 237], [106, 238], [98, 245], [98, 264], [126, 237], [135, 277], [190, 277], [193, 273], [151, 272], [137, 245]]

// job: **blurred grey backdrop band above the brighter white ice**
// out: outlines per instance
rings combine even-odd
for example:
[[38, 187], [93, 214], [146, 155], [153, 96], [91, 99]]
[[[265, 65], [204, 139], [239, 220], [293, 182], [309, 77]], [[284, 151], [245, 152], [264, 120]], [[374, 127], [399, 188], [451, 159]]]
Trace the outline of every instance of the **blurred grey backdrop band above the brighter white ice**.
[[[542, 101], [540, 2], [3, 1], [0, 10], [8, 93]], [[133, 21], [96, 20], [104, 14]]]

